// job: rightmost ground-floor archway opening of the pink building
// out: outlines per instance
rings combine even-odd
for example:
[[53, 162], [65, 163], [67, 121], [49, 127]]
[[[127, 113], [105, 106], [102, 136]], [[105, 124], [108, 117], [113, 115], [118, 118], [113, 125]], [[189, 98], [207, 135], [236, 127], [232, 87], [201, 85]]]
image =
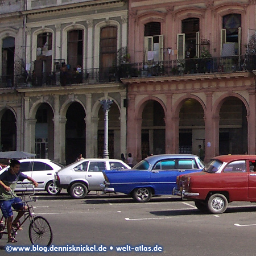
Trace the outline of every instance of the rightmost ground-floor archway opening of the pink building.
[[219, 154], [247, 152], [247, 111], [243, 102], [228, 97], [220, 109]]

